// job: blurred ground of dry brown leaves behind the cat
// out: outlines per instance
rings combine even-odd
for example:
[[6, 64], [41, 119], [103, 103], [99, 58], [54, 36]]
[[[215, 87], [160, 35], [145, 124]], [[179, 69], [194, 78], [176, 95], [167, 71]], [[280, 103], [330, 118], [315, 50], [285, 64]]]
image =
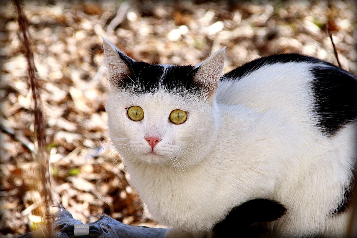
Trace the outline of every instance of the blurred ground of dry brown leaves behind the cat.
[[[0, 0], [0, 237], [36, 229], [41, 217], [33, 101], [17, 14]], [[159, 227], [142, 210], [107, 140], [109, 94], [101, 35], [135, 60], [198, 64], [226, 48], [227, 72], [280, 53], [301, 53], [356, 74], [354, 1], [24, 1], [47, 126], [52, 193], [75, 219], [106, 213]], [[56, 205], [56, 203], [54, 202]], [[56, 211], [56, 209], [54, 209]]]

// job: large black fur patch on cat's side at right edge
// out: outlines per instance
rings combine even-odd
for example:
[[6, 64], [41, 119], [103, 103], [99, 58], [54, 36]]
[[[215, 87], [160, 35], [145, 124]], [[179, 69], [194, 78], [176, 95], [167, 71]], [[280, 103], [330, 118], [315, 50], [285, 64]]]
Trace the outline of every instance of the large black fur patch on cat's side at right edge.
[[311, 69], [318, 127], [327, 135], [357, 118], [357, 79], [336, 66]]

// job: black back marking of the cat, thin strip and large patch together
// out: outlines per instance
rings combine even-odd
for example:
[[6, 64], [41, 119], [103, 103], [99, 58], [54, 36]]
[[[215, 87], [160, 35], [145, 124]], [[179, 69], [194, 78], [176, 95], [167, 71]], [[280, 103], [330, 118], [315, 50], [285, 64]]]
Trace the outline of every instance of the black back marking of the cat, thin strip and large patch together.
[[[315, 80], [312, 90], [318, 127], [326, 135], [357, 118], [356, 76], [328, 62], [299, 54], [280, 54], [261, 57], [226, 73], [221, 80], [239, 80], [262, 66], [287, 62], [318, 63], [311, 72]], [[322, 65], [324, 65], [322, 67]]]

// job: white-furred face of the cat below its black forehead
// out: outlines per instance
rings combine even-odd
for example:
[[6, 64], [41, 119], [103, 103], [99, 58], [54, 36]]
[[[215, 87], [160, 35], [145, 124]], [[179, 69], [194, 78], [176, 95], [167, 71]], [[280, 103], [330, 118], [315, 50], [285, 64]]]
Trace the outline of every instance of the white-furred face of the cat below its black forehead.
[[[128, 109], [132, 106], [142, 108], [144, 117], [140, 121], [129, 117]], [[206, 155], [214, 137], [215, 110], [206, 98], [188, 98], [163, 91], [140, 95], [118, 91], [111, 93], [106, 110], [110, 138], [125, 159], [183, 166], [195, 162], [187, 162], [187, 158]], [[186, 112], [187, 119], [180, 124], [171, 122], [170, 114], [174, 110]], [[155, 145], [150, 143], [150, 139], [155, 140], [152, 138], [158, 140]]]

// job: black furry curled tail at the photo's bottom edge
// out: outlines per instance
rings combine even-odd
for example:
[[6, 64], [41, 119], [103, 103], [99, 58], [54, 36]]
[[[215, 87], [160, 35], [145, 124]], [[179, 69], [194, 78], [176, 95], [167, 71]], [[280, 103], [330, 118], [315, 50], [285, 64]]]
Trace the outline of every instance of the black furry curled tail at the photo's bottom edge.
[[226, 218], [213, 228], [215, 238], [232, 237], [254, 238], [261, 231], [251, 229], [256, 222], [272, 222], [282, 217], [286, 208], [270, 199], [253, 199], [232, 209]]

